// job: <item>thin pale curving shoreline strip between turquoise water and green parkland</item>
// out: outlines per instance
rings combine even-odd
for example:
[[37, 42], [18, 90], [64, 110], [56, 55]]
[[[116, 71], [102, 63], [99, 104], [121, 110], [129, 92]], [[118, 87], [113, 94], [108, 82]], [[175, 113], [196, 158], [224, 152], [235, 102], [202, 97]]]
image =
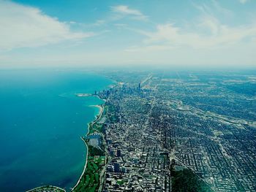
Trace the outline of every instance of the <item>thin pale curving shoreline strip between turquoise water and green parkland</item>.
[[[105, 101], [105, 100], [103, 100], [103, 101]], [[102, 113], [103, 113], [103, 111], [104, 111], [104, 106], [103, 106], [103, 104], [90, 105], [89, 107], [97, 107], [97, 108], [99, 108], [99, 113], [94, 116], [95, 119], [94, 119], [93, 121], [87, 123], [88, 128], [87, 128], [86, 136], [88, 136], [89, 133], [90, 133], [90, 127], [91, 127], [91, 125], [93, 125], [94, 123], [96, 123], [97, 120], [99, 120], [99, 119], [101, 118]], [[88, 154], [89, 154], [88, 145], [87, 145], [86, 141], [83, 139], [83, 137], [80, 137], [80, 139], [82, 139], [83, 142], [84, 142], [84, 144], [86, 145], [86, 164], [85, 164], [84, 167], [83, 167], [83, 172], [82, 172], [82, 174], [80, 175], [80, 177], [79, 177], [79, 179], [78, 179], [78, 182], [77, 182], [77, 183], [75, 184], [75, 186], [71, 189], [71, 191], [73, 191], [73, 190], [78, 186], [78, 184], [80, 183], [80, 180], [81, 180], [81, 178], [83, 177], [83, 174], [86, 172], [86, 166], [87, 166], [87, 162], [88, 162]]]

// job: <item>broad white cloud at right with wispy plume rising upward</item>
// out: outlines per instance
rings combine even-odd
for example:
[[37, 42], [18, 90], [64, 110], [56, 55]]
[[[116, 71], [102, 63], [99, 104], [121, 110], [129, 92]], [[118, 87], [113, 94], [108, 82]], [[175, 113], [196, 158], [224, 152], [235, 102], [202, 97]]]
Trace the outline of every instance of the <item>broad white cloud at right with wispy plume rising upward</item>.
[[208, 7], [206, 4], [193, 4], [202, 15], [187, 23], [186, 26], [182, 26], [182, 23], [178, 23], [179, 26], [176, 23], [167, 23], [158, 24], [156, 31], [153, 32], [132, 30], [147, 37], [143, 41], [143, 47], [146, 50], [152, 50], [152, 45], [157, 47], [158, 50], [161, 49], [159, 46], [162, 46], [162, 49], [182, 46], [196, 49], [213, 49], [230, 47], [230, 45], [239, 46], [238, 43], [240, 42], [252, 42], [252, 39], [256, 37], [256, 23], [227, 26], [214, 16], [214, 9], [223, 15], [232, 15], [233, 13], [220, 7], [217, 1], [212, 2], [213, 7]]

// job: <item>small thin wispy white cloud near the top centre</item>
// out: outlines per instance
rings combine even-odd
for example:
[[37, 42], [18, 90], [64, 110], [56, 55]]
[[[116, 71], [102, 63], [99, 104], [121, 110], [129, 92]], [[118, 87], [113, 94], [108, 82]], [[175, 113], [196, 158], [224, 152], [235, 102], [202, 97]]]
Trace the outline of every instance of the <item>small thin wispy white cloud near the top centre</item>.
[[135, 20], [147, 20], [148, 17], [143, 15], [138, 9], [130, 9], [127, 5], [118, 5], [111, 7], [113, 12], [117, 12], [121, 15], [129, 15], [132, 16]]

